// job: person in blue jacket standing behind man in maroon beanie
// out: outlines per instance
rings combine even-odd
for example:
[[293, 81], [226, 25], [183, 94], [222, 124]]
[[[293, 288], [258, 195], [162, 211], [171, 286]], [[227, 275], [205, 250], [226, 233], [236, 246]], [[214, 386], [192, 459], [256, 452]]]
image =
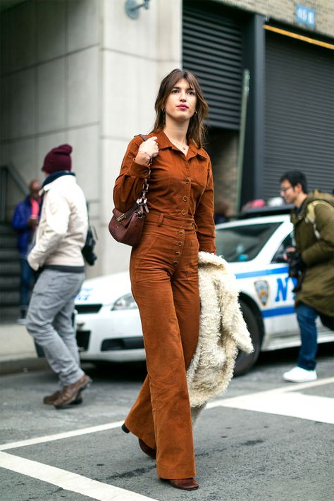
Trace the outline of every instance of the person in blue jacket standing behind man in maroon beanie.
[[41, 183], [34, 179], [29, 185], [30, 194], [20, 202], [14, 211], [12, 227], [18, 232], [18, 252], [20, 256], [20, 318], [18, 323], [25, 323], [30, 291], [34, 282], [35, 272], [27, 262], [34, 240], [35, 230], [39, 221]]

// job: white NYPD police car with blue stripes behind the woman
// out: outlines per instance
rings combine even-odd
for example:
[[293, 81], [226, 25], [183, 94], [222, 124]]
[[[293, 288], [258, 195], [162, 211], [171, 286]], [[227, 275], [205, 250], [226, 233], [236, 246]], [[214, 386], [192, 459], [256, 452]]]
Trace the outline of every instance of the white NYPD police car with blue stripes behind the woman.
[[[300, 344], [294, 310], [294, 280], [283, 258], [293, 245], [287, 214], [261, 216], [216, 225], [217, 254], [229, 262], [240, 289], [240, 305], [254, 352], [240, 352], [235, 374], [247, 372], [259, 353]], [[75, 300], [77, 340], [85, 361], [145, 359], [137, 304], [128, 272], [86, 280]], [[334, 333], [318, 323], [318, 342]]]

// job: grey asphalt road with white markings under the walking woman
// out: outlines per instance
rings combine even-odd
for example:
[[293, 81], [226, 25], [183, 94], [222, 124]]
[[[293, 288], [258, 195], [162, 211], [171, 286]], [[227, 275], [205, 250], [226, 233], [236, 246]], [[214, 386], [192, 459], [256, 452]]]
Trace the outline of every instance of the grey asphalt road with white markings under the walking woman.
[[[261, 355], [202, 412], [194, 429], [200, 488], [159, 480], [154, 460], [120, 431], [144, 377], [142, 366], [92, 366], [80, 406], [42, 404], [50, 371], [1, 377], [1, 501], [333, 501], [333, 344], [318, 381], [285, 383], [296, 350]], [[62, 434], [62, 435], [59, 435]], [[117, 488], [120, 488], [118, 490]]]

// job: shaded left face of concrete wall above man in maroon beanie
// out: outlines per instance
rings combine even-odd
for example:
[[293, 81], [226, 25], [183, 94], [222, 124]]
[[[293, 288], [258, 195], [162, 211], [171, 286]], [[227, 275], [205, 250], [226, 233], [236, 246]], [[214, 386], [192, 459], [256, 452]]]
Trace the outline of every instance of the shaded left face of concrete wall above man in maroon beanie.
[[[99, 216], [99, 0], [27, 0], [1, 13], [1, 164], [43, 179], [45, 154], [73, 145]], [[96, 175], [92, 176], [92, 168]], [[12, 190], [10, 209], [22, 194]]]

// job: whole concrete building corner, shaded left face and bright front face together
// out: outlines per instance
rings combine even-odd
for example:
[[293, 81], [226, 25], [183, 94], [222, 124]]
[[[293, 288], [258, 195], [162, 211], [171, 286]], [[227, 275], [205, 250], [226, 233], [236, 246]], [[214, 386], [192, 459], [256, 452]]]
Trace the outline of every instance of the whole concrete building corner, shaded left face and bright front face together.
[[[25, 0], [1, 12], [1, 164], [43, 179], [47, 151], [73, 145], [73, 171], [99, 235], [89, 276], [124, 270], [107, 226], [126, 146], [149, 132], [159, 82], [181, 64], [181, 0], [130, 19], [118, 0]], [[9, 213], [22, 198], [13, 185]]]

